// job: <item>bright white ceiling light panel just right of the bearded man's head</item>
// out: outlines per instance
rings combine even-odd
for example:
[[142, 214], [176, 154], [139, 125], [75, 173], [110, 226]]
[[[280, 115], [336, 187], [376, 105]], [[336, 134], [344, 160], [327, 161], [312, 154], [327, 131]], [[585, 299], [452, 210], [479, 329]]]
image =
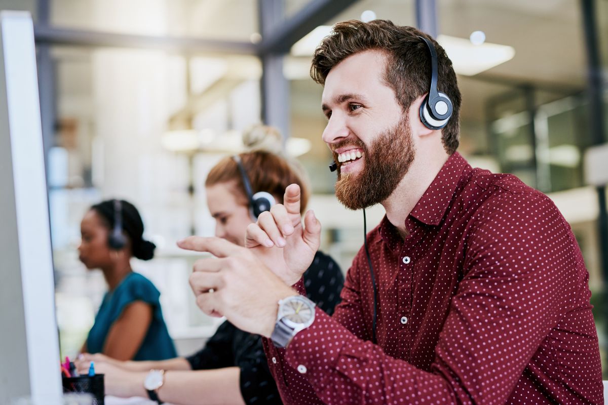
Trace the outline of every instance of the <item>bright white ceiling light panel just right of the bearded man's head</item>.
[[437, 42], [446, 50], [455, 72], [459, 75], [477, 75], [515, 56], [515, 49], [506, 45], [491, 43], [473, 45], [468, 39], [448, 35], [438, 36]]

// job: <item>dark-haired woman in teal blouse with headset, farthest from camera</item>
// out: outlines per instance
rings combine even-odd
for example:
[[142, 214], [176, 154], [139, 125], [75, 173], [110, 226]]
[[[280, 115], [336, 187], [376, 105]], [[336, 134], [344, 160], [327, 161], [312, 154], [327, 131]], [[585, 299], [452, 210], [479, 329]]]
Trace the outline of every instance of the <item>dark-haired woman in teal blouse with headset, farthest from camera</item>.
[[89, 269], [101, 269], [108, 283], [81, 352], [103, 353], [118, 360], [175, 357], [160, 293], [131, 268], [131, 257], [150, 260], [155, 248], [143, 239], [143, 222], [135, 206], [125, 200], [95, 204], [83, 217], [80, 232], [80, 261]]

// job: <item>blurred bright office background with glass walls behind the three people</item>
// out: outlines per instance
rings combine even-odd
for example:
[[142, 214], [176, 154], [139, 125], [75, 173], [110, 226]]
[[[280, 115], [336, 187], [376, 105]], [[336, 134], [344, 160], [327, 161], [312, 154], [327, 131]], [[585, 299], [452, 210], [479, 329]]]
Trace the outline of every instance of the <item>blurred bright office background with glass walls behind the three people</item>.
[[[309, 64], [335, 22], [380, 18], [432, 33], [454, 61], [460, 153], [561, 209], [589, 269], [606, 364], [606, 189], [587, 181], [585, 155], [608, 140], [607, 0], [0, 0], [0, 9], [35, 21], [62, 355], [80, 348], [105, 291], [76, 248], [81, 217], [110, 197], [140, 209], [159, 247], [134, 269], [161, 290], [179, 352], [212, 333], [216, 321], [187, 284], [195, 256], [174, 242], [213, 234], [206, 173], [260, 121], [308, 170], [322, 248], [348, 268], [362, 215], [333, 196]], [[382, 214], [373, 209], [368, 227]]]

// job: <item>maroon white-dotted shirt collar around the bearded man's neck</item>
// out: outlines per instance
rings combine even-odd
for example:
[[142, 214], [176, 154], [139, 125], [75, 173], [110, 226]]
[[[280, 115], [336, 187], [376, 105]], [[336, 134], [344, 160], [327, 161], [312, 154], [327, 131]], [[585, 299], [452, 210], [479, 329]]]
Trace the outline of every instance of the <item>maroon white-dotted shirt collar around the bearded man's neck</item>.
[[[414, 217], [426, 225], [439, 225], [465, 170], [471, 170], [471, 166], [462, 155], [454, 152], [447, 158], [446, 163], [443, 164], [433, 182], [430, 183], [429, 188], [420, 197], [409, 217]], [[412, 221], [406, 220], [406, 226], [410, 230], [411, 226], [408, 226], [408, 222], [411, 223]], [[382, 219], [378, 231], [384, 242], [389, 244], [389, 248], [395, 250], [401, 237], [399, 237], [395, 226], [390, 223], [387, 216]]]

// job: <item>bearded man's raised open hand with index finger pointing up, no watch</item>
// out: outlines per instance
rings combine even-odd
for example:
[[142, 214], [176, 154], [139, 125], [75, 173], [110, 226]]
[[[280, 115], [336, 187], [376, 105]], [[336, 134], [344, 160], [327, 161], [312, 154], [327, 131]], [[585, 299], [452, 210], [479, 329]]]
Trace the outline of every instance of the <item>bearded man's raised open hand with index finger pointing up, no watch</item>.
[[294, 285], [313, 262], [319, 250], [321, 224], [308, 211], [304, 226], [300, 216], [300, 186], [285, 189], [283, 204], [261, 213], [258, 222], [247, 226], [245, 246], [287, 285]]

